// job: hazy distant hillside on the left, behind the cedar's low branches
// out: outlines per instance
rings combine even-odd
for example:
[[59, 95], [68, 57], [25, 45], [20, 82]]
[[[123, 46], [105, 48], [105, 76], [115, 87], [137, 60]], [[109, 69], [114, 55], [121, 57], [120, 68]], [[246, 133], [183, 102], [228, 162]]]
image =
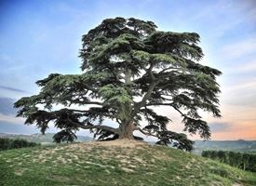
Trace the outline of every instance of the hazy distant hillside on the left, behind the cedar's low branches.
[[[42, 134], [22, 135], [22, 134], [0, 133], [0, 138], [23, 139], [23, 140], [36, 142], [36, 143], [51, 143], [53, 142], [52, 140], [53, 135], [54, 133], [46, 133], [45, 135], [42, 135]], [[76, 141], [83, 142], [88, 140], [92, 140], [92, 139], [85, 136], [77, 136]]]

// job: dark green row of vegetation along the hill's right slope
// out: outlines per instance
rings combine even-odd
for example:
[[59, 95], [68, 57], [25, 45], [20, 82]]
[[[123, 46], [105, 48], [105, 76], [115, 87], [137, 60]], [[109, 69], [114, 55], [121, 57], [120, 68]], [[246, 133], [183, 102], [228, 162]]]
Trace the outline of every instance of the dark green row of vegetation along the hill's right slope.
[[256, 154], [253, 153], [203, 151], [202, 156], [213, 160], [218, 160], [224, 164], [235, 166], [243, 170], [256, 172]]

